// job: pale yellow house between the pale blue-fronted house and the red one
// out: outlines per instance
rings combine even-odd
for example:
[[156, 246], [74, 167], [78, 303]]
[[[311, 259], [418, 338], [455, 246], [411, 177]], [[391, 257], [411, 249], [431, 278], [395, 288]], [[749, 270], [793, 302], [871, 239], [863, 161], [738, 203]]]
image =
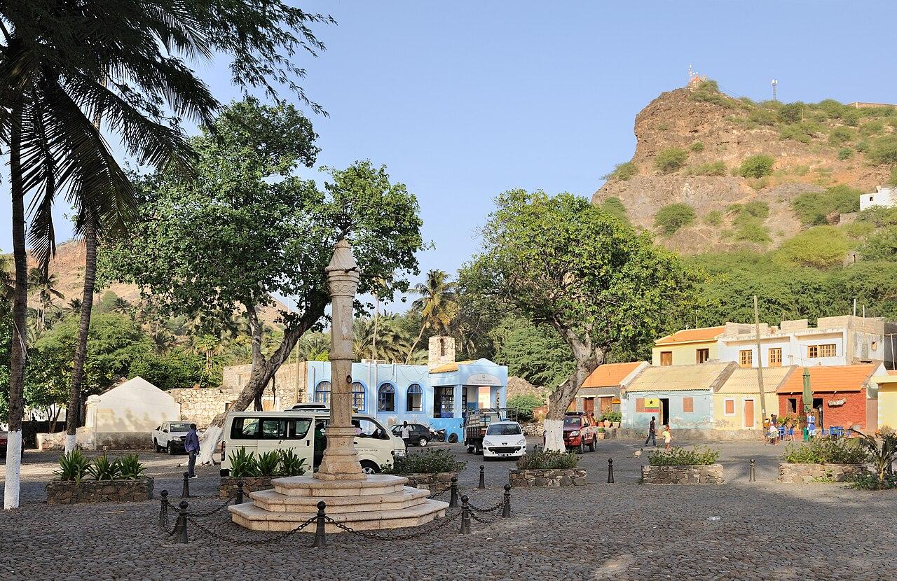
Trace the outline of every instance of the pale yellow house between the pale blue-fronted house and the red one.
[[[763, 368], [763, 399], [766, 416], [779, 415], [777, 390], [785, 379], [797, 369], [794, 366]], [[713, 395], [713, 424], [719, 431], [745, 430], [745, 437], [753, 436], [753, 430], [763, 429], [760, 380], [757, 369], [736, 369]], [[731, 434], [735, 436], [736, 434]]]

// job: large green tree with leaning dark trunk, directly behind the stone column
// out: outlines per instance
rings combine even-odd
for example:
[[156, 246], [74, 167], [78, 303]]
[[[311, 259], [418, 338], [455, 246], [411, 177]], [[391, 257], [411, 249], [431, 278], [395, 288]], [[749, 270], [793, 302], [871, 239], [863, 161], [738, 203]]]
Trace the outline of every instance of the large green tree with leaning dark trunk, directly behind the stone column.
[[[414, 195], [370, 161], [329, 169], [324, 191], [296, 178], [317, 155], [315, 137], [292, 106], [232, 104], [193, 140], [198, 178], [148, 178], [141, 220], [102, 258], [106, 272], [138, 284], [163, 314], [230, 317], [239, 309], [247, 317], [252, 372], [233, 409], [257, 400], [300, 337], [320, 327], [337, 240], [348, 239], [358, 256], [361, 294], [391, 298], [407, 289], [405, 273], [417, 272]], [[280, 313], [283, 337], [266, 354], [258, 308], [274, 305], [274, 295], [295, 310]]]

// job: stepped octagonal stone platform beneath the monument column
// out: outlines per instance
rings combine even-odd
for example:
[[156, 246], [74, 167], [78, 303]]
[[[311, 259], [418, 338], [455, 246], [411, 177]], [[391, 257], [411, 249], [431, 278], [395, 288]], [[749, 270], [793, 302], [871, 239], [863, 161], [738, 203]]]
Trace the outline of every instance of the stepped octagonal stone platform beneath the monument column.
[[[251, 502], [228, 507], [237, 525], [252, 531], [292, 531], [318, 514], [318, 501], [327, 503], [327, 516], [360, 531], [417, 526], [445, 516], [447, 502], [427, 499], [429, 492], [405, 486], [408, 479], [373, 474], [365, 480], [321, 481], [290, 476], [271, 481], [274, 490], [250, 492]], [[314, 533], [313, 525], [303, 529]], [[342, 529], [330, 523], [327, 533]]]

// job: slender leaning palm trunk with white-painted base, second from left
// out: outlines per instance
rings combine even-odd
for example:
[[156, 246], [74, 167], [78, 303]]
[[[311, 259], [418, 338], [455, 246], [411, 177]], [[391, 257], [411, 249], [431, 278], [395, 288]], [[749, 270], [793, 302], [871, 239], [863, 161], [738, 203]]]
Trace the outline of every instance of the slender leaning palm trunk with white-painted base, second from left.
[[91, 329], [91, 309], [93, 289], [97, 278], [97, 230], [92, 218], [84, 230], [84, 292], [81, 298], [81, 320], [78, 322], [78, 343], [74, 346], [74, 370], [72, 371], [72, 391], [68, 395], [68, 410], [65, 412], [65, 451], [71, 452], [76, 445], [75, 430], [81, 419], [81, 386], [84, 382], [84, 360], [87, 359], [87, 334]]

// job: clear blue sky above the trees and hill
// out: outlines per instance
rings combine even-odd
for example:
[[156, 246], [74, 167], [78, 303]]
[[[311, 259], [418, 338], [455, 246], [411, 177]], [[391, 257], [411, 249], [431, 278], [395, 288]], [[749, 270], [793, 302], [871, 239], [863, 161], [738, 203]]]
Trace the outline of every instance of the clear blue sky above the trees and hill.
[[[312, 117], [318, 163], [384, 163], [418, 196], [435, 244], [422, 271], [466, 261], [503, 190], [591, 195], [631, 157], [636, 113], [683, 86], [688, 65], [753, 99], [770, 98], [777, 78], [783, 101], [897, 100], [881, 36], [897, 12], [890, 3], [299, 5], [339, 22], [316, 29], [327, 43], [318, 59], [298, 56], [309, 96], [330, 114]], [[199, 72], [220, 100], [237, 97], [224, 63]], [[4, 194], [0, 248], [9, 251]], [[57, 231], [70, 235], [64, 223]]]

